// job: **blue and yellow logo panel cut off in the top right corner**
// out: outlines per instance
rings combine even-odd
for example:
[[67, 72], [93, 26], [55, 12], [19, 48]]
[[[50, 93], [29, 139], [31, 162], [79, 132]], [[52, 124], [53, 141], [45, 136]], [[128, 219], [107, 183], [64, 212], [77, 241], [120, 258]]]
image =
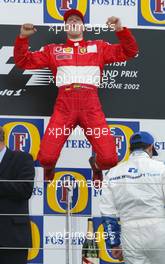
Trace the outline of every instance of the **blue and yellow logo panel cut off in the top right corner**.
[[138, 25], [165, 26], [165, 0], [139, 0]]

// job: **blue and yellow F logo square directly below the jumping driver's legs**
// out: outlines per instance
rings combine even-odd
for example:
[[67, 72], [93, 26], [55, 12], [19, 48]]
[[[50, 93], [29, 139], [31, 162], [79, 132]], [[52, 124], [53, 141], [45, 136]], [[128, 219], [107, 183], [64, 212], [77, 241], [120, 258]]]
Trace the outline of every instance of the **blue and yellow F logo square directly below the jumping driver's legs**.
[[91, 214], [91, 180], [90, 169], [56, 169], [54, 181], [45, 183], [45, 214], [66, 214], [67, 212], [67, 181], [72, 183], [72, 202], [70, 213], [79, 215]]

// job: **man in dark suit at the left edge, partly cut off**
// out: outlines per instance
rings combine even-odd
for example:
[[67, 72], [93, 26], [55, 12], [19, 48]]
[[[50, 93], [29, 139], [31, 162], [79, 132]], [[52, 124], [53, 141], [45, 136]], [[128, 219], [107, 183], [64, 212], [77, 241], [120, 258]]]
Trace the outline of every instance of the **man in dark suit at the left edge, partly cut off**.
[[11, 151], [0, 127], [0, 264], [26, 264], [32, 247], [28, 200], [34, 184], [30, 154]]

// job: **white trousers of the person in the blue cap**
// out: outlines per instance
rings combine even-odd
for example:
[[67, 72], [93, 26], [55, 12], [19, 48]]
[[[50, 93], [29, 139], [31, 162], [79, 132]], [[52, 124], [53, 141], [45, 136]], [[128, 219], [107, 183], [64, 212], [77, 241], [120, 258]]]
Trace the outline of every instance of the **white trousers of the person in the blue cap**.
[[125, 264], [165, 264], [165, 218], [122, 223]]

